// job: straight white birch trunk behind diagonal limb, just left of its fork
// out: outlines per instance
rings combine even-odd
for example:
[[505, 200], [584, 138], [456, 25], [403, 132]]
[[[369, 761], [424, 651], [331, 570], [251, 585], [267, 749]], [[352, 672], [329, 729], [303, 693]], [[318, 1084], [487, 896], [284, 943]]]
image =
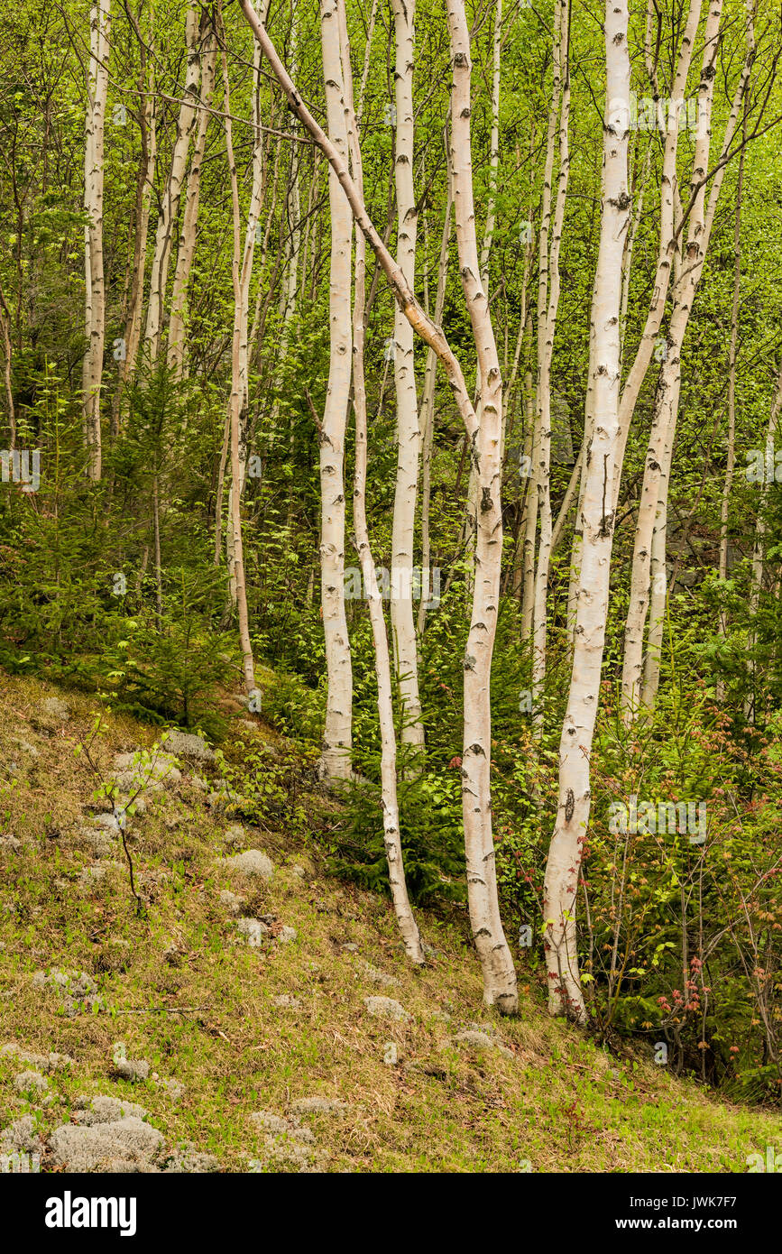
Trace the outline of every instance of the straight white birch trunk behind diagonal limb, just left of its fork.
[[[412, 66], [415, 0], [394, 0], [396, 63], [396, 260], [415, 290], [417, 209], [412, 183], [414, 109]], [[402, 744], [424, 749], [424, 724], [419, 697], [419, 657], [412, 616], [412, 559], [415, 515], [421, 459], [421, 428], [415, 379], [415, 331], [400, 310], [394, 311], [394, 382], [396, 386], [396, 488], [391, 530], [391, 631], [401, 703]]]

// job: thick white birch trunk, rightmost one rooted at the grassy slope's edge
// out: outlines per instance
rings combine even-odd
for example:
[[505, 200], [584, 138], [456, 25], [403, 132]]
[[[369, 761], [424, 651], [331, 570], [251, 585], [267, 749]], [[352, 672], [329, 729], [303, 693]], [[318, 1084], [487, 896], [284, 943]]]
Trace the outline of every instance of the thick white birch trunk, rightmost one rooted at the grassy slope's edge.
[[622, 256], [632, 203], [628, 192], [630, 60], [627, 0], [607, 0], [604, 30], [603, 208], [589, 354], [593, 434], [583, 475], [581, 567], [573, 672], [559, 745], [556, 825], [543, 890], [549, 1011], [579, 1022], [585, 1021], [586, 1009], [579, 977], [575, 904], [581, 846], [589, 823], [592, 741], [608, 614], [615, 517], [609, 492], [619, 438]]

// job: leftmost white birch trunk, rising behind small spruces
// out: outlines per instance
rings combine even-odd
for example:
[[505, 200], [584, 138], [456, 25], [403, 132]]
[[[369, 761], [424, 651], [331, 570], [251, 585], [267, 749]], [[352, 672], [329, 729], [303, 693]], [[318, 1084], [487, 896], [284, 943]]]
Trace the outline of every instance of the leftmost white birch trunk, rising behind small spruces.
[[105, 277], [103, 268], [103, 145], [109, 88], [110, 0], [96, 0], [90, 11], [90, 59], [84, 135], [84, 334], [81, 366], [84, 443], [90, 479], [100, 479], [100, 386], [105, 339]]

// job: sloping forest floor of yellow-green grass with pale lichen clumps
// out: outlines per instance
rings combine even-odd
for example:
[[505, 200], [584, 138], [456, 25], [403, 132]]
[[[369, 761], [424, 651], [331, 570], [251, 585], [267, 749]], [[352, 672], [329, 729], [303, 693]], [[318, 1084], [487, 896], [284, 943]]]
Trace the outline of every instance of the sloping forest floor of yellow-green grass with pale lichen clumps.
[[[98, 774], [127, 795], [159, 776], [127, 829], [138, 913], [76, 752], [98, 700], [0, 683], [0, 1154], [54, 1171], [741, 1172], [782, 1144], [777, 1114], [595, 1046], [536, 986], [499, 1018], [465, 929], [422, 910], [412, 969], [385, 899], [311, 844], [239, 828], [219, 761], [117, 761], [154, 732], [109, 714]], [[273, 755], [256, 724], [242, 735]]]

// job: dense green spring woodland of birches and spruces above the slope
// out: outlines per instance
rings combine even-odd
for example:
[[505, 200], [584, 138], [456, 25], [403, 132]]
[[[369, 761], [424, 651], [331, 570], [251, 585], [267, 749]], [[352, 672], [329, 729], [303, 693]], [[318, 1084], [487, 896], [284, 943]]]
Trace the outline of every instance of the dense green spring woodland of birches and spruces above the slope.
[[[386, 632], [375, 614], [373, 636], [360, 573], [360, 376], [348, 366], [346, 385], [345, 302], [350, 324], [363, 237], [345, 246], [342, 199], [342, 253], [335, 247], [342, 191], [333, 176], [330, 188], [328, 161], [288, 108], [243, 8], [113, 0], [109, 13], [109, 0], [23, 0], [1, 19], [0, 665], [217, 741], [219, 695], [243, 683], [249, 711], [262, 709], [298, 745], [263, 775], [248, 760], [246, 816], [283, 816], [323, 844], [335, 870], [383, 892], [388, 854], [399, 880], [399, 828], [414, 912], [461, 908], [470, 880], [480, 932], [494, 887], [487, 874], [479, 900], [465, 875], [462, 811], [465, 781], [482, 786], [469, 775], [475, 736], [462, 735], [466, 642], [486, 569], [480, 441], [465, 434], [427, 344], [410, 347], [370, 241], [353, 326], [365, 329], [370, 564], [431, 572], [426, 608], [412, 597], [410, 652], [405, 607], [394, 603], [404, 578], [387, 578]], [[451, 107], [460, 11], [469, 119]], [[454, 0], [446, 13], [419, 0], [414, 38], [402, 0], [346, 0], [346, 10], [341, 0], [320, 10], [272, 0], [258, 14], [346, 159], [352, 140], [338, 118], [355, 123], [368, 216], [392, 257], [412, 250], [410, 286], [442, 327], [485, 431], [490, 379], [477, 370], [465, 282], [487, 296], [481, 317], [503, 380], [489, 504], [500, 509], [501, 485], [503, 544], [480, 839], [489, 824], [498, 935], [504, 927], [513, 949], [506, 1008], [515, 963], [521, 978], [548, 983], [554, 1013], [604, 1037], [665, 1041], [674, 1070], [734, 1099], [778, 1101], [779, 14], [766, 0], [653, 0], [648, 11], [634, 0], [624, 45], [633, 94], [618, 120], [603, 21], [622, 21], [620, 10], [486, 0], [465, 13]], [[683, 49], [687, 120], [670, 128]], [[602, 186], [612, 143], [627, 163], [619, 199]], [[356, 145], [350, 153], [356, 181]], [[480, 275], [466, 280], [471, 219], [452, 203], [455, 162], [460, 194], [469, 178], [475, 198]], [[580, 522], [589, 483], [585, 503], [579, 493], [597, 458], [593, 295], [609, 237], [622, 255], [603, 278], [619, 314], [623, 387], [638, 355], [648, 360], [623, 463], [615, 380], [605, 474], [620, 468], [619, 492], [614, 513], [603, 499], [610, 520], [595, 538], [589, 517]], [[411, 419], [399, 398], [410, 400], [412, 381]], [[655, 539], [644, 540], [644, 517]], [[608, 604], [589, 624], [599, 682], [586, 681], [597, 722], [578, 731], [584, 793], [569, 782], [560, 736], [584, 682], [578, 653], [573, 670], [574, 631], [576, 650], [584, 640], [576, 607], [586, 613], [593, 592], [581, 554], [604, 540]], [[321, 749], [347, 653], [332, 632], [327, 657], [325, 626], [341, 614], [350, 744], [326, 735]], [[343, 697], [345, 673], [340, 683]], [[311, 770], [335, 786], [348, 776], [332, 823], [296, 804]], [[665, 830], [618, 820], [643, 801], [655, 815], [660, 803], [665, 815], [665, 803], [702, 806], [706, 839], [682, 810]], [[570, 840], [570, 895], [555, 907], [553, 833]], [[401, 900], [399, 883], [395, 892]], [[404, 902], [397, 913], [415, 927]], [[561, 976], [563, 954], [580, 994]]]

